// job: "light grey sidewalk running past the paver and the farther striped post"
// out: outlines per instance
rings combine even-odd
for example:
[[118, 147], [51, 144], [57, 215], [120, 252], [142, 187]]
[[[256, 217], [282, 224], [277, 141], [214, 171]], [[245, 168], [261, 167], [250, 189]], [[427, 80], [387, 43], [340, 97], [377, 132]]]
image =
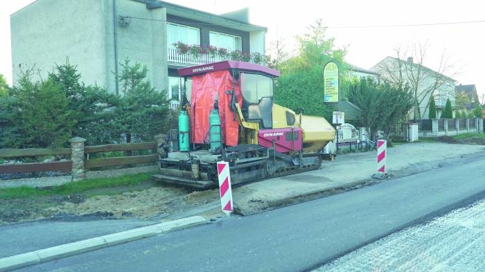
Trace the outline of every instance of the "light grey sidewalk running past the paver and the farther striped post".
[[[387, 172], [394, 177], [425, 172], [436, 167], [464, 162], [468, 156], [485, 154], [481, 145], [408, 143], [387, 149]], [[318, 197], [328, 190], [365, 184], [376, 173], [376, 152], [337, 156], [323, 161], [321, 169], [268, 179], [233, 190], [236, 207], [245, 215], [272, 207], [286, 206]], [[335, 192], [333, 192], [335, 193]], [[327, 192], [327, 194], [333, 194]]]

